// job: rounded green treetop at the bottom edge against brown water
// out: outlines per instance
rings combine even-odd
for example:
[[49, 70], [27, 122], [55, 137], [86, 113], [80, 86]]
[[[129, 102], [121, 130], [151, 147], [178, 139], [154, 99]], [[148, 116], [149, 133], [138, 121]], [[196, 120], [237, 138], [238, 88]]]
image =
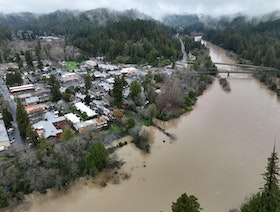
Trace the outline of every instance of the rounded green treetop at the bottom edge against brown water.
[[172, 212], [199, 212], [202, 209], [197, 200], [195, 196], [184, 193], [172, 203]]

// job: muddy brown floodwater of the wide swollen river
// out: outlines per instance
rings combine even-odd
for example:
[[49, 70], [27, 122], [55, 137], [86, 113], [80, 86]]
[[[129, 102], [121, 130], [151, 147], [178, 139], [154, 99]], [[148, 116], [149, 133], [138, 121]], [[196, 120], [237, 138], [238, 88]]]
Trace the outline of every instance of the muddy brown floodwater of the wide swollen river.
[[[211, 47], [211, 56], [215, 62], [229, 60], [216, 47]], [[150, 129], [149, 155], [133, 145], [120, 149], [129, 180], [106, 188], [78, 183], [55, 198], [51, 192], [30, 195], [29, 211], [166, 212], [184, 192], [197, 196], [203, 211], [239, 207], [262, 186], [267, 157], [280, 139], [280, 104], [252, 77], [232, 76], [229, 82], [230, 93], [216, 80], [194, 111], [163, 123], [176, 141]]]

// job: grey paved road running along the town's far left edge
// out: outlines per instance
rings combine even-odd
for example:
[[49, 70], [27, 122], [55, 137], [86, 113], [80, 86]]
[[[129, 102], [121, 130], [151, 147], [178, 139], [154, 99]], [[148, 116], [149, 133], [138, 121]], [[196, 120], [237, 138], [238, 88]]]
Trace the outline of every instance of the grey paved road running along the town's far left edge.
[[13, 99], [11, 99], [10, 93], [2, 78], [0, 78], [0, 92], [4, 96], [5, 100], [9, 103], [9, 108], [10, 108], [11, 114], [13, 116], [12, 125], [15, 129], [15, 132], [14, 132], [15, 141], [14, 141], [13, 145], [24, 145], [25, 143], [20, 137], [19, 129], [17, 126], [17, 121], [16, 121], [16, 103]]

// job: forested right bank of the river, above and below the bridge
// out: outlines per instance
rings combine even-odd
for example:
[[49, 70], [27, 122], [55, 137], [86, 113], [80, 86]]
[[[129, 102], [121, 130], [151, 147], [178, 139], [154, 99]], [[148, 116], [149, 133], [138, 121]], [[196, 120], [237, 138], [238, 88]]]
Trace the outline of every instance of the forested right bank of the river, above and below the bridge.
[[[276, 14], [277, 15], [277, 14]], [[279, 18], [221, 18], [216, 27], [199, 24], [205, 39], [238, 56], [239, 63], [280, 69]], [[213, 24], [213, 23], [212, 23]], [[210, 24], [211, 25], [211, 24]], [[195, 28], [195, 26], [192, 26]], [[256, 79], [280, 96], [279, 73], [256, 73]]]

